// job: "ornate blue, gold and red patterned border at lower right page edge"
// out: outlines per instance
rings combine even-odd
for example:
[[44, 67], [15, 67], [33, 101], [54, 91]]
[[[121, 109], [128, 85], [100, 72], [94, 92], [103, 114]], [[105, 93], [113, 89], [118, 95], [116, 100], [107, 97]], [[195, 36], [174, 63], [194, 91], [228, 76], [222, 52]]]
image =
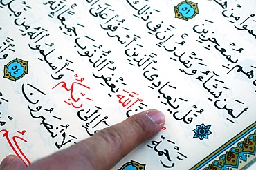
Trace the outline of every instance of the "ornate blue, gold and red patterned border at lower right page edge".
[[[226, 151], [226, 153], [224, 153]], [[239, 164], [248, 163], [256, 152], [256, 121], [237, 136], [212, 152], [191, 170], [237, 169]], [[219, 156], [219, 158], [217, 158]], [[215, 159], [215, 160], [214, 160]], [[252, 158], [253, 159], [253, 158]], [[251, 159], [250, 159], [251, 160]], [[244, 162], [243, 162], [244, 161]], [[210, 164], [209, 164], [210, 163]], [[208, 164], [208, 167], [206, 167]]]

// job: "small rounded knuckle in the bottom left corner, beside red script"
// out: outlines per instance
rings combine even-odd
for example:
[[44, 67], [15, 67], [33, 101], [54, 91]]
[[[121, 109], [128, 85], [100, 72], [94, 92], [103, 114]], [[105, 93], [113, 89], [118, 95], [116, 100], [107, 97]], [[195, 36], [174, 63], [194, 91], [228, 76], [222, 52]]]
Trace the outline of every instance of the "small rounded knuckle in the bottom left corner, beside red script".
[[[10, 162], [5, 162], [5, 159], [3, 159], [0, 170], [21, 170], [26, 167], [24, 162], [19, 157], [14, 155], [12, 156], [15, 158], [13, 158]], [[8, 164], [6, 165], [6, 163]]]

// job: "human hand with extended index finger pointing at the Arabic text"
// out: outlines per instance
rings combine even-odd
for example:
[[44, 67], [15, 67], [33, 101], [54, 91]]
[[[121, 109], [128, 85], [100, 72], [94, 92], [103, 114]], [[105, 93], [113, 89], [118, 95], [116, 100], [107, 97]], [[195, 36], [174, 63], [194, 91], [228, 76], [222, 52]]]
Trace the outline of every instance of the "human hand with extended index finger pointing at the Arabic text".
[[152, 138], [164, 124], [165, 116], [160, 111], [143, 111], [29, 167], [25, 167], [19, 157], [7, 156], [1, 162], [0, 170], [111, 169], [130, 151]]

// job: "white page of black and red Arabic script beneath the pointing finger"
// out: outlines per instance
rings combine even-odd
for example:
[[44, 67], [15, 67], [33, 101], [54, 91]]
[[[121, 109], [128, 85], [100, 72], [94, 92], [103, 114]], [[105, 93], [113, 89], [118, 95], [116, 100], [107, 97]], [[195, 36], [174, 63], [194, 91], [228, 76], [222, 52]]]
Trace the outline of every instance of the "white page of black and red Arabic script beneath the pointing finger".
[[[1, 0], [0, 159], [17, 151], [30, 164], [158, 109], [163, 130], [113, 169], [244, 166], [256, 143], [255, 6]], [[214, 163], [243, 141], [252, 148], [223, 157], [235, 162]]]

